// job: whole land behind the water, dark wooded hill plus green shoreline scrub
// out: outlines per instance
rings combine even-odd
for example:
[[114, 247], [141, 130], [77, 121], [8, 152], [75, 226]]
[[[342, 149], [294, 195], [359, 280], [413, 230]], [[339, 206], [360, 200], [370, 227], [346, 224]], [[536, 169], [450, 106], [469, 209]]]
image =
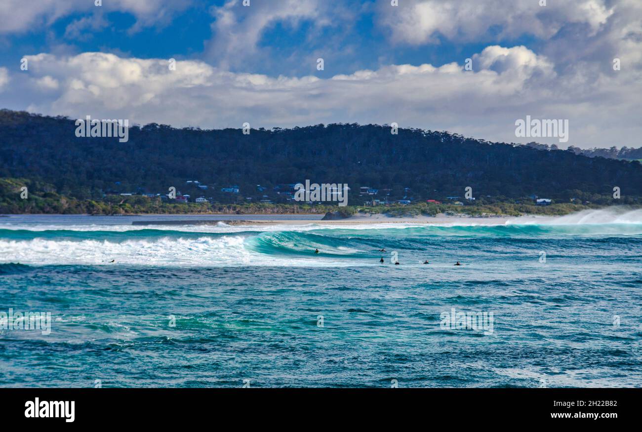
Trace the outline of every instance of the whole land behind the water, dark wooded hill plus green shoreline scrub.
[[[0, 212], [338, 211], [345, 217], [358, 211], [564, 214], [642, 205], [638, 160], [608, 159], [600, 151], [587, 157], [573, 146], [490, 143], [403, 128], [395, 135], [386, 125], [354, 124], [259, 128], [245, 135], [240, 129], [152, 123], [130, 126], [126, 143], [117, 137], [76, 137], [74, 131], [74, 120], [67, 117], [0, 110]], [[631, 149], [625, 153], [637, 157]], [[347, 184], [348, 206], [293, 200], [293, 184], [308, 179]], [[20, 198], [23, 186], [27, 199]], [[172, 189], [184, 202], [167, 199]], [[551, 205], [536, 206], [537, 198]]]

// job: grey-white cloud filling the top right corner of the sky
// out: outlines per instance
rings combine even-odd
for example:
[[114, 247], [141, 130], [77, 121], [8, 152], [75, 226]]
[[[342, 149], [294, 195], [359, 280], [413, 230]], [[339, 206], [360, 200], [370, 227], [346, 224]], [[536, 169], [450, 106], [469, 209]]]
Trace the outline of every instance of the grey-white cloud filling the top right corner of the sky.
[[[597, 79], [612, 59], [642, 66], [639, 0], [406, 0], [379, 4], [377, 22], [394, 44], [423, 46], [445, 38], [457, 44], [534, 38], [559, 73]], [[590, 77], [590, 78], [589, 78]]]

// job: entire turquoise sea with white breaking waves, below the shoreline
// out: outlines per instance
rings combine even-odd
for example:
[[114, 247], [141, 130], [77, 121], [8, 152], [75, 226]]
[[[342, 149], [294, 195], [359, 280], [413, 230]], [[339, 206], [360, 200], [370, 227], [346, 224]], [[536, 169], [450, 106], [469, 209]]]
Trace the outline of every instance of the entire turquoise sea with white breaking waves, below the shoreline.
[[642, 386], [639, 212], [139, 219], [0, 218], [0, 313], [51, 313], [49, 334], [0, 330], [0, 386]]

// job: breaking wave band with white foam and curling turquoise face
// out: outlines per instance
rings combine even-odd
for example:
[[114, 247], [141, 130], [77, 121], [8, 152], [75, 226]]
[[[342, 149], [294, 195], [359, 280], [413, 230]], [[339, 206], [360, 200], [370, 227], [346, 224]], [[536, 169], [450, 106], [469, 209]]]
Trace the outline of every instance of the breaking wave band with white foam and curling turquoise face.
[[[501, 252], [558, 240], [556, 248], [602, 253], [625, 239], [642, 239], [642, 211], [586, 211], [560, 218], [498, 225], [365, 223], [361, 225], [185, 226], [180, 229], [0, 229], [0, 263], [139, 266], [351, 266], [370, 265], [379, 248], [418, 255], [440, 250]], [[471, 220], [467, 220], [470, 222]], [[130, 225], [126, 225], [130, 227]], [[320, 254], [314, 254], [318, 249]], [[7, 270], [4, 270], [7, 271]], [[11, 270], [11, 271], [15, 271]]]

